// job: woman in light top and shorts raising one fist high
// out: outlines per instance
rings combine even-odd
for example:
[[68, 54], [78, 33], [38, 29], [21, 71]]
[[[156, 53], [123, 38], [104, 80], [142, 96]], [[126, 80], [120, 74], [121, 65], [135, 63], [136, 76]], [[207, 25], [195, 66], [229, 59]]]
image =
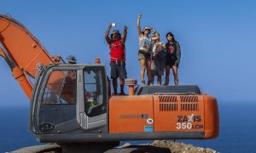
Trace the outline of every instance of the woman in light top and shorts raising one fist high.
[[148, 84], [153, 85], [153, 79], [150, 72], [150, 53], [149, 53], [149, 47], [151, 41], [156, 40], [158, 37], [150, 38], [148, 35], [150, 34], [151, 29], [148, 27], [144, 27], [143, 31], [140, 27], [140, 20], [141, 20], [142, 14], [138, 14], [137, 17], [137, 31], [138, 31], [138, 37], [139, 37], [139, 51], [138, 51], [138, 59], [140, 60], [141, 65], [141, 81], [142, 84], [145, 85], [145, 70], [147, 68], [147, 75], [148, 75]]

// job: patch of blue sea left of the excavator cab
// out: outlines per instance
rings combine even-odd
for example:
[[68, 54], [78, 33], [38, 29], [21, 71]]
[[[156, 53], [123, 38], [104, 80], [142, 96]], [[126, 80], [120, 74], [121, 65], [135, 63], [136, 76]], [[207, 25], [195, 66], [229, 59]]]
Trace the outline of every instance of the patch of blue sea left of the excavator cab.
[[27, 131], [28, 106], [0, 107], [0, 153], [39, 144]]

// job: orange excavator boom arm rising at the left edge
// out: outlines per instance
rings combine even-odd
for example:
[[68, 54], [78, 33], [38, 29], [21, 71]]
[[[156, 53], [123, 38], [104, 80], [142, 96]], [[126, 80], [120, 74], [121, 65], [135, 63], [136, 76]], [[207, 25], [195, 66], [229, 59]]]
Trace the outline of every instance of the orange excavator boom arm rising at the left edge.
[[29, 77], [36, 76], [37, 65], [58, 62], [25, 26], [3, 14], [0, 14], [0, 55], [29, 99], [33, 86]]

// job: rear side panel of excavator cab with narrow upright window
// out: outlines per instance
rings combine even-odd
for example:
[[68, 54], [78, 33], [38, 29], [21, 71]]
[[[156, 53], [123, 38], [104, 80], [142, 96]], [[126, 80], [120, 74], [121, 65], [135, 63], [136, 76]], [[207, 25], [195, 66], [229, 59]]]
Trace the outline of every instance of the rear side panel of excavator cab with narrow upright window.
[[84, 129], [107, 125], [107, 81], [103, 65], [85, 66], [79, 71], [79, 116]]

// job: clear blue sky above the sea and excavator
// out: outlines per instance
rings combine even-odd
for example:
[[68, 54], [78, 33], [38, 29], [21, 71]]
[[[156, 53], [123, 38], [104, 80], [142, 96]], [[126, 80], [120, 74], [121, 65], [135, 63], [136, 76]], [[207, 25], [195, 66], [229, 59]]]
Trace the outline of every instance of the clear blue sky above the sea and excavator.
[[[256, 2], [218, 1], [1, 1], [0, 14], [11, 14], [49, 51], [79, 63], [106, 64], [108, 44], [104, 33], [128, 26], [126, 69], [139, 80], [137, 14], [141, 26], [153, 26], [166, 42], [172, 31], [181, 45], [179, 84], [196, 84], [219, 103], [256, 102]], [[173, 84], [173, 78], [171, 77]], [[0, 106], [28, 105], [29, 100], [0, 59]]]

